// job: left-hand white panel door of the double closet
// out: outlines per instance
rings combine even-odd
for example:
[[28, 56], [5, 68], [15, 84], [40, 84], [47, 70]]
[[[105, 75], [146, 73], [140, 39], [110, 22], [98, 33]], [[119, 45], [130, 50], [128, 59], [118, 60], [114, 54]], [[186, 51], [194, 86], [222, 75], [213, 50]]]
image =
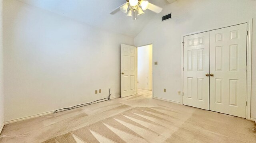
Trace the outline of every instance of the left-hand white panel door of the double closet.
[[184, 37], [184, 105], [209, 110], [209, 46], [209, 31]]

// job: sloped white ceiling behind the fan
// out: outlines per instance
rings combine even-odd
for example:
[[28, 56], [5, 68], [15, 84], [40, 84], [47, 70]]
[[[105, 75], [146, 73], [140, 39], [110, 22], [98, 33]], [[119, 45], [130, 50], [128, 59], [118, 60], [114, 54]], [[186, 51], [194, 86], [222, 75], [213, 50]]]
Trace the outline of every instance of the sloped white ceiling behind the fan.
[[[156, 13], [146, 10], [137, 20], [126, 14], [110, 12], [124, 4], [126, 0], [18, 0], [32, 6], [61, 14], [69, 18], [84, 22], [116, 33], [135, 37]], [[150, 3], [163, 7], [166, 0], [149, 0]]]

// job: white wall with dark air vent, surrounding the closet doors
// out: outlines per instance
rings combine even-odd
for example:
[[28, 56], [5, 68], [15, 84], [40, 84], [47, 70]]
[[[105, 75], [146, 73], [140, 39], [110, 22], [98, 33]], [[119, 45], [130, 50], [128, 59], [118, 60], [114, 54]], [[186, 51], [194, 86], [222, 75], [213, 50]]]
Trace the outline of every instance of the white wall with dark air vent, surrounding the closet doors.
[[[256, 0], [177, 0], [166, 5], [135, 37], [134, 44], [154, 43], [154, 96], [181, 102], [181, 37], [197, 31], [247, 22], [254, 18], [252, 37], [252, 118], [256, 118]], [[161, 21], [172, 12], [172, 19]], [[164, 93], [163, 89], [167, 92]]]

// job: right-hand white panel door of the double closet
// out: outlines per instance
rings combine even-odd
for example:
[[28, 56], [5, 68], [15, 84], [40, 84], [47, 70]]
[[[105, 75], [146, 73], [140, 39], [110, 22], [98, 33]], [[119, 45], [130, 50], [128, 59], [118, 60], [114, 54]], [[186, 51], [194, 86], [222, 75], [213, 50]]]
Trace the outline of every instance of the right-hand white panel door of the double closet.
[[246, 35], [246, 24], [210, 31], [212, 111], [245, 118]]

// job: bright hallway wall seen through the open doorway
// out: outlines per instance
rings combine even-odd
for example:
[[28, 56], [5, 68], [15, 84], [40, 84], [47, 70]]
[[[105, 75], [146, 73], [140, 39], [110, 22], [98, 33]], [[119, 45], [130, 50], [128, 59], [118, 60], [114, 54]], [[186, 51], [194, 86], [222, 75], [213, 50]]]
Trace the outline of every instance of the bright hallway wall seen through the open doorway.
[[152, 90], [152, 45], [138, 47], [138, 88]]

